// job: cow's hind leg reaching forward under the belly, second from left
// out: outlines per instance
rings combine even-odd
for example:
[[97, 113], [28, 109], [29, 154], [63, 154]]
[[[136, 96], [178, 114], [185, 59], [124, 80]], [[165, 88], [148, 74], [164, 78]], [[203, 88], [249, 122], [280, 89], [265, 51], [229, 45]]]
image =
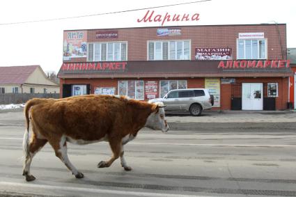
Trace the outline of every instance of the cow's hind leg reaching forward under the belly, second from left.
[[68, 154], [67, 154], [67, 143], [65, 136], [62, 136], [59, 141], [49, 141], [49, 143], [54, 148], [56, 157], [59, 157], [65, 166], [71, 171], [72, 175], [75, 175], [75, 178], [84, 178], [84, 174], [77, 171], [77, 168], [71, 164]]

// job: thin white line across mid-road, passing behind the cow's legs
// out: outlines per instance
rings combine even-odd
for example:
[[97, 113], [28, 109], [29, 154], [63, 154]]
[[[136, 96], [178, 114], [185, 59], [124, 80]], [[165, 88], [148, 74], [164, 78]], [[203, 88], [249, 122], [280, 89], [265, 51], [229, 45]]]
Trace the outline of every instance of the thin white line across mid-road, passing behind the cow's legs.
[[[1, 138], [8, 140], [23, 140], [22, 138]], [[100, 143], [107, 143], [102, 141]], [[268, 145], [268, 144], [218, 144], [218, 143], [143, 143], [143, 142], [130, 142], [127, 144], [143, 144], [143, 145], [196, 145], [196, 146], [249, 146], [249, 147], [296, 147], [296, 145]]]

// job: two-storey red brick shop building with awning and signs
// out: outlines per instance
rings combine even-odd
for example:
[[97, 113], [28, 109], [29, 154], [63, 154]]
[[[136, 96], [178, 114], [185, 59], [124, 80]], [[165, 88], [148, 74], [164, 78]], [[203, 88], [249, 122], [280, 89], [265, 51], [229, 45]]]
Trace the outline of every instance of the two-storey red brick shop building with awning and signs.
[[286, 109], [293, 74], [286, 49], [286, 24], [67, 30], [61, 95], [149, 100], [208, 88], [215, 109]]

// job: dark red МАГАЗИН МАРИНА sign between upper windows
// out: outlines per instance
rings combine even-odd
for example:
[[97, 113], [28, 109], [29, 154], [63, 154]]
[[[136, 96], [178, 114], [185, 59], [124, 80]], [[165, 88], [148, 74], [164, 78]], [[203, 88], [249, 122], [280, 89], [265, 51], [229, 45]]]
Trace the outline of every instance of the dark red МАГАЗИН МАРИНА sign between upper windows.
[[196, 60], [231, 60], [231, 48], [195, 48]]

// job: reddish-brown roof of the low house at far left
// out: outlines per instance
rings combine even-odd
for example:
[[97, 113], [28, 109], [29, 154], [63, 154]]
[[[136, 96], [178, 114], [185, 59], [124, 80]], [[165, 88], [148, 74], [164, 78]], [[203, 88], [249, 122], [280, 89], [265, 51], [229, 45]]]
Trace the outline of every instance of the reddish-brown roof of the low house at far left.
[[40, 65], [0, 67], [0, 84], [24, 84]]

